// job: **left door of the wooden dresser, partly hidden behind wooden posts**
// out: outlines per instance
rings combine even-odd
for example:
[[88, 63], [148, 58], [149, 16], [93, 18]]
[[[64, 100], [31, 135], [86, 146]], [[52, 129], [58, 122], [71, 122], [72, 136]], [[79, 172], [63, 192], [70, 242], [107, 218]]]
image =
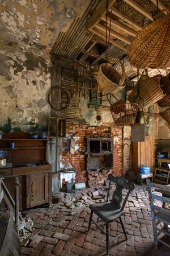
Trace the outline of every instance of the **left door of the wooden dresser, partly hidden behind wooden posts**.
[[[4, 183], [15, 201], [15, 177], [5, 177]], [[22, 177], [19, 176], [19, 210], [22, 210]]]

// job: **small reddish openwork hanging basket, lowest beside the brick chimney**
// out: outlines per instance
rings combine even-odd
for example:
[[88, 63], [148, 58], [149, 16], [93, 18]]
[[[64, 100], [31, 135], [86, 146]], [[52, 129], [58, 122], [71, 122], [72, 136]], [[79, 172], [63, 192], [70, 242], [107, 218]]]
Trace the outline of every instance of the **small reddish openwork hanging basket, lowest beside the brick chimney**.
[[[112, 96], [116, 98], [113, 94]], [[107, 95], [108, 98], [108, 95]], [[117, 98], [116, 98], [117, 100]], [[111, 104], [111, 101], [108, 98]], [[118, 101], [110, 106], [114, 124], [117, 126], [133, 125], [135, 123], [138, 104]]]

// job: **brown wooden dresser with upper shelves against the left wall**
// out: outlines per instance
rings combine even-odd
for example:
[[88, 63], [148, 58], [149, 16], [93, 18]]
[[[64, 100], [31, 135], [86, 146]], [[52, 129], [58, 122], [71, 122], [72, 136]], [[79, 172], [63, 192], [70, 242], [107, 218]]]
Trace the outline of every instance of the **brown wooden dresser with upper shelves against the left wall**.
[[[10, 148], [10, 142], [15, 147]], [[41, 204], [52, 204], [52, 171], [47, 159], [48, 139], [30, 139], [29, 133], [3, 134], [0, 150], [11, 154], [11, 169], [0, 170], [5, 184], [15, 199], [15, 176], [19, 176], [19, 209], [31, 208]], [[35, 163], [36, 166], [26, 166]]]

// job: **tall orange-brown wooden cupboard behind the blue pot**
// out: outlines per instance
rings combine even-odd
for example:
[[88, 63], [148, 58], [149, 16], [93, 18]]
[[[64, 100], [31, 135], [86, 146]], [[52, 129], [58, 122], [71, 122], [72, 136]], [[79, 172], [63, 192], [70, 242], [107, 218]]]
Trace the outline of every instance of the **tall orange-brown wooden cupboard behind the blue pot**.
[[155, 170], [154, 137], [146, 136], [145, 142], [132, 143], [132, 167], [135, 172], [139, 167], [148, 166], [151, 172]]

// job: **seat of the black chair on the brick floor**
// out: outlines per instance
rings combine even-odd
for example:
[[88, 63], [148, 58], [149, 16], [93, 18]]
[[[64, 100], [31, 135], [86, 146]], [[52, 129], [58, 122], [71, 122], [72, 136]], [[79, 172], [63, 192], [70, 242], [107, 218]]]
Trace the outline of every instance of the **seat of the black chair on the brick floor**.
[[101, 220], [104, 220], [105, 222], [113, 221], [124, 214], [123, 210], [120, 210], [120, 208], [112, 203], [90, 204], [89, 207], [92, 212], [96, 213], [97, 216], [99, 216]]

